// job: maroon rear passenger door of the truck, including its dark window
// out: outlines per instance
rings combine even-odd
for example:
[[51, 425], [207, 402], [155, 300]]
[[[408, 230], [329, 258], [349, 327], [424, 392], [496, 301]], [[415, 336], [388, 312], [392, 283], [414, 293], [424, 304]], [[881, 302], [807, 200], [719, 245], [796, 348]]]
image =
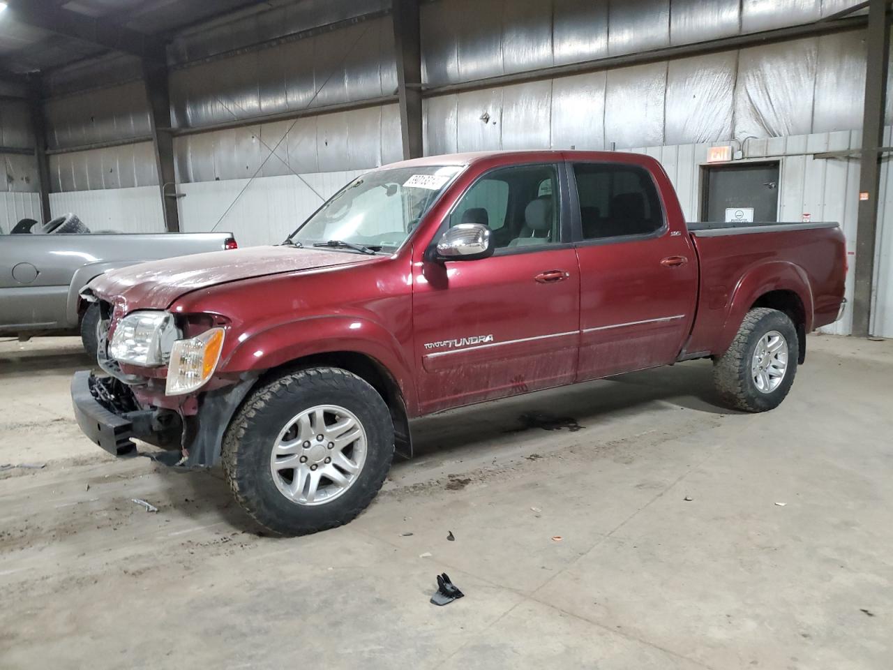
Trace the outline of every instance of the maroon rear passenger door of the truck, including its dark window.
[[672, 363], [691, 328], [697, 260], [634, 163], [570, 163], [580, 263], [579, 381]]

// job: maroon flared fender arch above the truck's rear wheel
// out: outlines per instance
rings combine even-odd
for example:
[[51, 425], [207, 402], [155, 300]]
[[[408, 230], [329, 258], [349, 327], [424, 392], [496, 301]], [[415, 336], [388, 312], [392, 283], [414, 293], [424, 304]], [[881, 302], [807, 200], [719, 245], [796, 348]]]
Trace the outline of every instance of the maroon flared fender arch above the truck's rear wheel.
[[722, 353], [731, 346], [741, 322], [751, 306], [770, 291], [793, 291], [803, 303], [806, 332], [813, 330], [813, 289], [809, 277], [800, 266], [787, 261], [755, 265], [745, 272], [735, 287], [730, 307], [714, 352]]

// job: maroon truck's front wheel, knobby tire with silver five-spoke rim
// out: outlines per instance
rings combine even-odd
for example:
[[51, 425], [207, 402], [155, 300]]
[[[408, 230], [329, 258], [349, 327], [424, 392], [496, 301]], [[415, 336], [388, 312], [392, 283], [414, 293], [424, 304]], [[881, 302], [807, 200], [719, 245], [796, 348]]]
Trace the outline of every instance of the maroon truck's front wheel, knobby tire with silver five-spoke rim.
[[223, 438], [239, 504], [281, 535], [348, 523], [378, 493], [394, 456], [385, 401], [353, 373], [318, 367], [256, 389]]

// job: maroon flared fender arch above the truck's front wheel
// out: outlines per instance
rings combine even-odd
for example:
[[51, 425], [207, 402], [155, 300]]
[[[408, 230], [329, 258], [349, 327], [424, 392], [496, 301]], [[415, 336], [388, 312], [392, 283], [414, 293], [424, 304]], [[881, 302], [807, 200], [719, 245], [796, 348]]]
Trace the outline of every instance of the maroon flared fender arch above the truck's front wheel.
[[390, 331], [363, 317], [314, 316], [280, 323], [240, 340], [218, 370], [227, 374], [263, 372], [305, 356], [338, 351], [377, 361], [400, 387], [407, 412], [415, 414], [415, 383], [404, 348]]

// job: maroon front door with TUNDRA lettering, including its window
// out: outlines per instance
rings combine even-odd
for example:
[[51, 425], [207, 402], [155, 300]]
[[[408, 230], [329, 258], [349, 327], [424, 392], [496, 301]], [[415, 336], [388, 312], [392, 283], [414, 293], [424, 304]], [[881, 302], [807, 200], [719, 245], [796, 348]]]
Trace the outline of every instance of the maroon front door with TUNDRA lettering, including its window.
[[493, 231], [495, 255], [433, 263], [416, 249], [413, 329], [421, 412], [571, 383], [576, 372], [580, 274], [559, 164], [484, 173], [440, 230], [463, 222]]

